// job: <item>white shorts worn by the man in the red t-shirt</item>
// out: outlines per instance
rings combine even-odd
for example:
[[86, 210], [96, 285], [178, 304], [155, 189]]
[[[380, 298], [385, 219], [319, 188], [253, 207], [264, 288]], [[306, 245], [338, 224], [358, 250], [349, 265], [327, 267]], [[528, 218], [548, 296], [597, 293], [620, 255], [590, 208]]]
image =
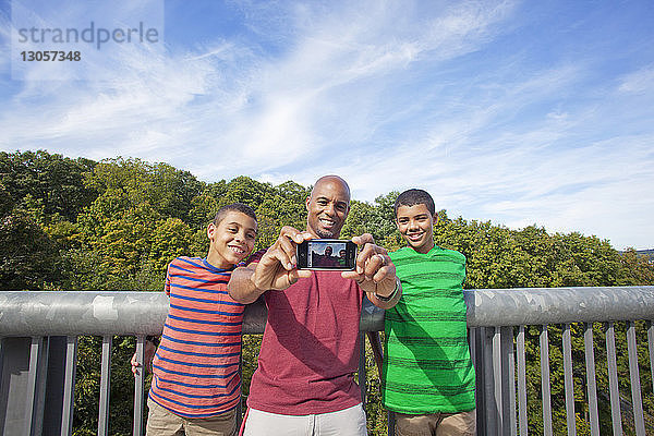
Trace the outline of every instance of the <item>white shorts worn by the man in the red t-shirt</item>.
[[367, 436], [362, 404], [315, 415], [280, 415], [247, 410], [243, 436]]

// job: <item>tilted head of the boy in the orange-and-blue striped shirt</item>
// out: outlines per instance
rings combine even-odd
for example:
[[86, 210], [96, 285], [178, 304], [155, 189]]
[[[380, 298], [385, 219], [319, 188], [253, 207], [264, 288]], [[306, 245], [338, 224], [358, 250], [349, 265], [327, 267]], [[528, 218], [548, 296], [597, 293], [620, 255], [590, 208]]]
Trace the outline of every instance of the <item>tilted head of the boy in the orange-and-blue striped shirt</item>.
[[218, 268], [231, 268], [254, 249], [256, 221], [247, 215], [230, 210], [218, 225], [207, 228], [210, 241], [207, 262]]

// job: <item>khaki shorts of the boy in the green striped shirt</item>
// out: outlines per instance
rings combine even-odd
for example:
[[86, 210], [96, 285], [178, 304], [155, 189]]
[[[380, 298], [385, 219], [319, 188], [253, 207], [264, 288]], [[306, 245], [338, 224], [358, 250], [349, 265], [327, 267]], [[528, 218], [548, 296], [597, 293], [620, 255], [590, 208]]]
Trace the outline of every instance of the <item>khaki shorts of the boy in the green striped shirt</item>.
[[396, 412], [396, 436], [474, 436], [476, 412], [408, 415]]

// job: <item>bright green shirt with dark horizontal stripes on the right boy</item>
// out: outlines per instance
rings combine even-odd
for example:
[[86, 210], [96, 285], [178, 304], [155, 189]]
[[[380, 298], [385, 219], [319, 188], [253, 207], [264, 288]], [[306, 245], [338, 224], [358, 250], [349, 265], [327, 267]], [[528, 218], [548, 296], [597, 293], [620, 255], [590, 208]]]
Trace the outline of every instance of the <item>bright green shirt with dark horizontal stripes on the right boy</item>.
[[390, 253], [402, 298], [386, 311], [382, 401], [409, 414], [475, 408], [463, 281], [465, 256], [434, 246]]

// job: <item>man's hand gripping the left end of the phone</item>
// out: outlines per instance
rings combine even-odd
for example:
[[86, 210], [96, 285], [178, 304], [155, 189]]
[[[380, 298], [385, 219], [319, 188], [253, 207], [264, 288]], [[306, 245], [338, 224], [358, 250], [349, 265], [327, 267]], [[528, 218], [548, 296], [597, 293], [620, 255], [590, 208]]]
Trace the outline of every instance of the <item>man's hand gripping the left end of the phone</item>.
[[296, 246], [312, 238], [308, 232], [284, 226], [277, 241], [256, 265], [251, 278], [254, 286], [261, 290], [282, 290], [293, 284], [300, 277], [311, 277], [310, 270], [298, 269]]

